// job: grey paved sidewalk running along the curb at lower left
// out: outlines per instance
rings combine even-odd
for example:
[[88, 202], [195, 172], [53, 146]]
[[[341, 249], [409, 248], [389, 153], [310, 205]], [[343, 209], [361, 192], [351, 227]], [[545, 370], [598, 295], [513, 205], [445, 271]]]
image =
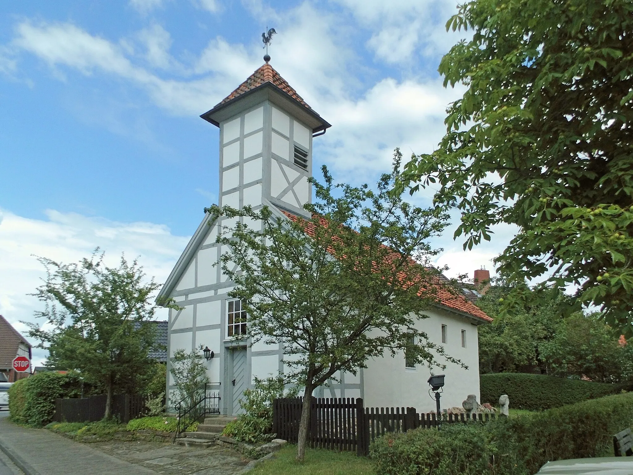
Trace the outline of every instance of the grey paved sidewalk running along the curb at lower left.
[[[6, 417], [0, 417], [0, 445], [25, 462], [28, 475], [155, 475], [157, 473], [146, 467], [117, 459], [89, 445], [66, 439], [46, 429], [27, 429], [16, 426]], [[11, 472], [9, 474], [13, 475]]]

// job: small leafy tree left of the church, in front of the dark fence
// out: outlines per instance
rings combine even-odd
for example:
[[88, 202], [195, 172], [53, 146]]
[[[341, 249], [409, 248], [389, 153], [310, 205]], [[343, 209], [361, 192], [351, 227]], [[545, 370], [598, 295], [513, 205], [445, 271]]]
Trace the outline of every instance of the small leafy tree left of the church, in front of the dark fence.
[[[86, 381], [103, 386], [106, 412], [111, 415], [115, 388], [134, 388], [152, 361], [156, 306], [150, 296], [160, 288], [145, 282], [142, 267], [121, 257], [118, 267], [107, 267], [103, 254], [79, 263], [63, 264], [40, 257], [46, 280], [32, 294], [46, 303], [35, 316], [46, 320], [30, 326], [28, 334], [49, 351], [47, 365], [75, 369]], [[167, 303], [173, 307], [173, 303]]]

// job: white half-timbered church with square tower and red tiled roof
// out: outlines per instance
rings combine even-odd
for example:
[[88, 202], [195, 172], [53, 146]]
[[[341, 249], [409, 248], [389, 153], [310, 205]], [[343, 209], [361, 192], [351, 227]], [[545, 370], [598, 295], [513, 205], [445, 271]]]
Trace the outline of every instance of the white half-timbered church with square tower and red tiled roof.
[[[254, 209], [268, 206], [274, 215], [308, 217], [303, 209], [311, 201], [313, 137], [325, 133], [323, 120], [268, 63], [256, 70], [227, 98], [202, 116], [220, 128], [220, 206]], [[215, 357], [206, 362], [209, 390], [221, 396], [223, 414], [240, 412], [239, 398], [254, 377], [276, 376], [284, 371], [282, 343], [265, 345], [232, 336], [246, 333], [248, 317], [239, 300], [227, 293], [233, 288], [215, 265], [226, 248], [216, 244], [218, 226], [205, 215], [187, 244], [158, 298], [172, 297], [183, 310], [169, 311], [168, 353], [208, 346]], [[468, 394], [479, 398], [477, 326], [491, 319], [465, 296], [444, 298], [418, 320], [417, 329], [446, 345], [449, 355], [468, 369], [449, 365], [442, 406], [461, 405]], [[401, 357], [377, 358], [356, 376], [339, 375], [341, 382], [315, 390], [318, 397], [364, 398], [367, 406], [416, 407], [432, 410], [428, 395], [429, 370], [406, 367]], [[168, 366], [167, 393], [175, 389]]]

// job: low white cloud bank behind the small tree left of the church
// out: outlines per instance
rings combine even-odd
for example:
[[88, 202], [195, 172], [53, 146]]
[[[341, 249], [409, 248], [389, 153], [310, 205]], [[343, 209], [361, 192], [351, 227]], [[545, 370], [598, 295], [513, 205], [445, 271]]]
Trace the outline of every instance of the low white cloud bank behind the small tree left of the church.
[[[116, 265], [125, 252], [128, 260], [139, 257], [147, 276], [165, 282], [189, 241], [173, 236], [165, 225], [148, 222], [122, 223], [54, 210], [48, 210], [46, 217], [28, 219], [0, 208], [0, 315], [22, 333], [27, 327], [20, 320], [35, 321], [34, 311], [42, 308], [27, 294], [46, 277], [32, 255], [77, 262], [100, 246], [109, 265]], [[158, 318], [166, 319], [165, 312], [159, 312]], [[34, 364], [45, 357], [42, 350], [34, 350]]]

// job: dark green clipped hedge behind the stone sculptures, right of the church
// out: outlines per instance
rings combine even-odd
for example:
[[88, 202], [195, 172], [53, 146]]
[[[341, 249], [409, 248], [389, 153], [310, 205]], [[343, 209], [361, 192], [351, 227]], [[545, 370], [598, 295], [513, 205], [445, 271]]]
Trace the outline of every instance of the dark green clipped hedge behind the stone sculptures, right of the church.
[[507, 394], [510, 407], [546, 410], [621, 393], [625, 384], [589, 383], [541, 374], [494, 373], [479, 376], [481, 402], [497, 405]]

